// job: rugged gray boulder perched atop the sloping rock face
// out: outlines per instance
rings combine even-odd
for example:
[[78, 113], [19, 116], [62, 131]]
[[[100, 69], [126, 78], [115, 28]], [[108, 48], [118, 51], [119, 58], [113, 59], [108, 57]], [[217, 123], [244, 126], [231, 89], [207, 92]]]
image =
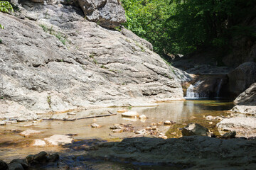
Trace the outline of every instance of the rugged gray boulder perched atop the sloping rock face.
[[77, 0], [89, 21], [107, 28], [126, 22], [125, 11], [119, 0]]

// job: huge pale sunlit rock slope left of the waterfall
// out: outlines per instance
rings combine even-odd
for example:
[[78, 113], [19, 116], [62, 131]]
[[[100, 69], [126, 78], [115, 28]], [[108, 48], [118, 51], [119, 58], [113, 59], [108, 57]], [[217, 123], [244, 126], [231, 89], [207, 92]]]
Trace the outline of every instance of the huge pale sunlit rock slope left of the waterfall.
[[75, 6], [22, 6], [19, 18], [0, 13], [0, 118], [183, 98], [169, 65], [142, 43]]

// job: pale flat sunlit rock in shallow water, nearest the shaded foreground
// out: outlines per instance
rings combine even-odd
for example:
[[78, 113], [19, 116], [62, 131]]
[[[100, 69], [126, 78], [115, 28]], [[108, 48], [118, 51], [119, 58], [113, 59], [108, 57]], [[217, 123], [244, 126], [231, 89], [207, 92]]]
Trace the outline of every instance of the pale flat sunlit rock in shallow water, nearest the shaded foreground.
[[68, 135], [53, 135], [44, 139], [49, 145], [65, 145], [73, 142], [73, 138]]

